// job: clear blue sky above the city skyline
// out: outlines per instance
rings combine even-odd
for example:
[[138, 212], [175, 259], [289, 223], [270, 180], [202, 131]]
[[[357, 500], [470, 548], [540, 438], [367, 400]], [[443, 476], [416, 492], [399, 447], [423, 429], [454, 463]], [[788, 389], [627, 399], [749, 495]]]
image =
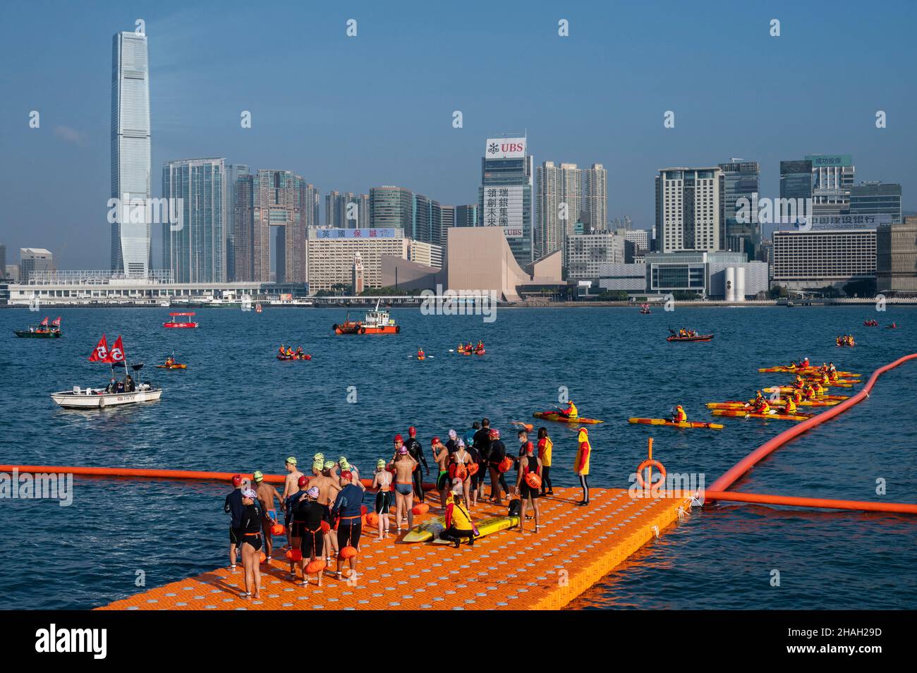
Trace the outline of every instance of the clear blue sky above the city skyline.
[[731, 157], [758, 160], [762, 195], [776, 196], [779, 160], [852, 154], [857, 182], [900, 182], [915, 209], [915, 7], [5, 0], [0, 243], [8, 261], [28, 246], [60, 268], [107, 267], [111, 38], [137, 18], [154, 195], [164, 160], [222, 156], [323, 193], [398, 184], [472, 203], [485, 138], [527, 130], [536, 163], [604, 164], [609, 216], [636, 226], [653, 224], [659, 168]]

